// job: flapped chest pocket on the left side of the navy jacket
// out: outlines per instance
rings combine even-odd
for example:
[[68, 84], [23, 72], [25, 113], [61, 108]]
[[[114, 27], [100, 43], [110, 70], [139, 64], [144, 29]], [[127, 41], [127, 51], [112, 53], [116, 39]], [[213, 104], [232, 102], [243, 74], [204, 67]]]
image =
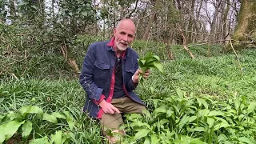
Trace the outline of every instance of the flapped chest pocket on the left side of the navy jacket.
[[110, 65], [102, 62], [95, 62], [94, 63], [94, 78], [98, 79], [106, 79], [109, 77], [110, 74]]

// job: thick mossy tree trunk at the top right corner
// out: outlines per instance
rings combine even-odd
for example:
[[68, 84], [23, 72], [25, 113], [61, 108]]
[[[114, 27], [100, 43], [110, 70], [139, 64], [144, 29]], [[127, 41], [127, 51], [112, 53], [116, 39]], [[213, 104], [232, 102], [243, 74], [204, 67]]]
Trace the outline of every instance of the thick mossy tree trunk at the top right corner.
[[[235, 50], [247, 47], [256, 48], [256, 1], [242, 0], [241, 8], [238, 14], [238, 26], [235, 27], [233, 42]], [[250, 44], [248, 45], [248, 43]], [[226, 50], [232, 50], [230, 45]]]

